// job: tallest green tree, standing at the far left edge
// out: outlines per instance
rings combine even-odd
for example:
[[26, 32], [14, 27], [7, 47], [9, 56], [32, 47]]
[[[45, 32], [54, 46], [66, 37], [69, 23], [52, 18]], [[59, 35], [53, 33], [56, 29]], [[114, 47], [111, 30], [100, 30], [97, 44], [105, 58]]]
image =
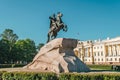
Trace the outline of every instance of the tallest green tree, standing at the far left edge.
[[1, 36], [1, 44], [2, 44], [1, 48], [5, 47], [4, 49], [5, 51], [3, 50], [2, 55], [3, 54], [6, 55], [6, 62], [11, 63], [15, 61], [14, 60], [16, 56], [15, 42], [17, 41], [18, 36], [11, 29], [5, 29], [5, 31], [3, 31], [3, 33], [0, 36]]

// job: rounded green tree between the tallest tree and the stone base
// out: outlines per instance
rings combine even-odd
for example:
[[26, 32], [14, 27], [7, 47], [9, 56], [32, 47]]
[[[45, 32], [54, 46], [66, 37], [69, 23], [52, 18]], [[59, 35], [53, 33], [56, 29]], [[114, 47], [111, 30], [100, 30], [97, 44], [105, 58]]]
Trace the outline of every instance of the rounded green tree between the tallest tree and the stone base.
[[36, 54], [35, 42], [31, 39], [18, 40], [16, 42], [16, 48], [20, 61], [30, 62]]

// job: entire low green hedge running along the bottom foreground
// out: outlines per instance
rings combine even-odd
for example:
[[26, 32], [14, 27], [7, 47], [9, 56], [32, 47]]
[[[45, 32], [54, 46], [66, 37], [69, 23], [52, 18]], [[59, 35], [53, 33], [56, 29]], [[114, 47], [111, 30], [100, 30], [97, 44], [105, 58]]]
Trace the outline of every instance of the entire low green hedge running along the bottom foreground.
[[120, 73], [0, 72], [0, 80], [120, 80]]

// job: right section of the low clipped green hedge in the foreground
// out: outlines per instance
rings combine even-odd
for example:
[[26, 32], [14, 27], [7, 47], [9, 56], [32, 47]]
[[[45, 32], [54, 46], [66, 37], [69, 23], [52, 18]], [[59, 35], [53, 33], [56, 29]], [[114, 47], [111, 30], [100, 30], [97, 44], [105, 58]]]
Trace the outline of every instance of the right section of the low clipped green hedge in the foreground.
[[61, 74], [59, 80], [120, 80], [120, 73]]

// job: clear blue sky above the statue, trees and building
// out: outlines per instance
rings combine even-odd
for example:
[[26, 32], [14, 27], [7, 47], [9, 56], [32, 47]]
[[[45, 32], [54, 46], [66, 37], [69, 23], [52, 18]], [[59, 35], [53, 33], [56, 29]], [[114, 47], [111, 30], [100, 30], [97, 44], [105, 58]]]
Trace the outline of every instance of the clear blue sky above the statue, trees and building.
[[19, 39], [45, 43], [49, 16], [62, 12], [68, 32], [58, 37], [80, 40], [120, 36], [120, 0], [0, 0], [0, 33], [9, 28]]

